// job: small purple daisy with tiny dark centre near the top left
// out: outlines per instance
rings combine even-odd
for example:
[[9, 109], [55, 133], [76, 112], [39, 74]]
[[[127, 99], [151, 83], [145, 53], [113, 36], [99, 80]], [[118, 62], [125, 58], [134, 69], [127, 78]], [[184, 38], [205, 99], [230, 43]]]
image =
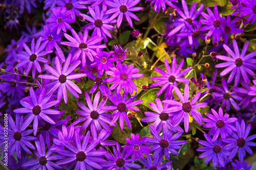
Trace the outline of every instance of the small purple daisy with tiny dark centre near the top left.
[[52, 30], [57, 29], [57, 35], [60, 33], [62, 30], [63, 32], [66, 33], [66, 29], [72, 30], [72, 27], [69, 25], [70, 22], [75, 22], [74, 19], [68, 18], [70, 13], [72, 11], [68, 11], [66, 8], [53, 8], [52, 9], [52, 15], [51, 18], [46, 19], [46, 22], [49, 23], [49, 28]]

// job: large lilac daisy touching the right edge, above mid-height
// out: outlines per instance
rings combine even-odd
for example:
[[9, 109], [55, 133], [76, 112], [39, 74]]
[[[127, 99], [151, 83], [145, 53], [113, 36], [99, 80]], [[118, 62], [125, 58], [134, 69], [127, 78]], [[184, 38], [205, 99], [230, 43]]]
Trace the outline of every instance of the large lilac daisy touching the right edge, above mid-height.
[[223, 45], [224, 49], [227, 51], [227, 53], [231, 57], [221, 56], [221, 55], [216, 56], [216, 58], [218, 59], [227, 61], [225, 63], [217, 64], [215, 67], [216, 68], [227, 67], [221, 72], [220, 76], [225, 76], [228, 74], [228, 72], [231, 71], [231, 74], [229, 75], [229, 78], [227, 80], [228, 84], [231, 83], [231, 81], [234, 78], [234, 75], [236, 75], [236, 77], [234, 78], [234, 86], [238, 85], [238, 82], [240, 80], [240, 74], [242, 75], [242, 78], [244, 79], [246, 84], [249, 84], [249, 78], [247, 74], [253, 77], [256, 76], [256, 74], [252, 71], [252, 69], [256, 67], [256, 59], [255, 59], [256, 52], [252, 52], [245, 55], [248, 45], [249, 45], [249, 42], [246, 41], [243, 46], [243, 50], [240, 54], [237, 41], [236, 39], [233, 39], [234, 53], [227, 45], [225, 44]]

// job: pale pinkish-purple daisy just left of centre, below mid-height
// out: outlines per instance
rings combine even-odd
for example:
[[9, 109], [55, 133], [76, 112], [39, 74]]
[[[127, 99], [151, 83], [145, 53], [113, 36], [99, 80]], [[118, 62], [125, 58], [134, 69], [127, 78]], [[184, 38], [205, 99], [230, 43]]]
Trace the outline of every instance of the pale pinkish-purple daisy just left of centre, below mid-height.
[[[101, 126], [108, 132], [111, 133], [110, 127], [107, 124], [111, 123], [111, 114], [105, 113], [106, 110], [100, 109], [102, 106], [105, 105], [107, 100], [102, 100], [99, 103], [100, 98], [100, 91], [98, 91], [94, 97], [94, 101], [92, 104], [91, 98], [87, 92], [84, 92], [86, 95], [86, 102], [88, 107], [84, 106], [82, 103], [77, 102], [77, 105], [82, 110], [76, 110], [76, 113], [79, 115], [82, 115], [82, 117], [79, 117], [75, 120], [75, 122], [83, 122], [83, 125], [80, 129], [81, 132], [86, 130], [86, 128], [91, 125], [91, 133], [97, 135], [97, 132], [99, 133], [102, 128]], [[100, 126], [101, 125], [101, 126]]]

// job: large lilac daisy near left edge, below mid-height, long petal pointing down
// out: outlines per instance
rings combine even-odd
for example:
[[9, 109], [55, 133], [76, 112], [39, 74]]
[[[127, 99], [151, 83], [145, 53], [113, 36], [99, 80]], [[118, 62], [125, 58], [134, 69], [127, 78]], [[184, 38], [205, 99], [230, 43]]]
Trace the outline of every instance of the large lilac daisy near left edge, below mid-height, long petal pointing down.
[[49, 109], [49, 107], [52, 107], [54, 105], [57, 105], [59, 101], [51, 101], [49, 102], [51, 95], [45, 97], [46, 88], [43, 88], [41, 90], [41, 93], [36, 95], [33, 87], [30, 87], [29, 89], [31, 100], [20, 100], [20, 104], [24, 108], [18, 108], [13, 110], [15, 113], [29, 113], [25, 116], [25, 122], [24, 126], [30, 125], [30, 123], [34, 120], [33, 123], [33, 129], [34, 129], [34, 136], [37, 133], [37, 127], [38, 127], [38, 120], [41, 122], [41, 119], [44, 119], [46, 122], [55, 125], [53, 119], [51, 119], [46, 114], [59, 114], [58, 110]]

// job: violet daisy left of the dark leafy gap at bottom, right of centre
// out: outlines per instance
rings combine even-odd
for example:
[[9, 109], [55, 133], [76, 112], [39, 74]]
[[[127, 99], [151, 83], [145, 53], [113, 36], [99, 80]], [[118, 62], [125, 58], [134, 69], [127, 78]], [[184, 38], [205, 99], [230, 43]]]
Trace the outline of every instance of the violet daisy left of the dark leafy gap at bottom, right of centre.
[[164, 155], [166, 159], [170, 159], [169, 152], [174, 155], [178, 155], [179, 153], [175, 149], [181, 149], [182, 147], [179, 145], [186, 143], [186, 141], [183, 140], [174, 141], [182, 135], [182, 132], [178, 132], [173, 135], [172, 132], [168, 131], [166, 124], [163, 124], [162, 137], [152, 125], [150, 125], [150, 130], [155, 138], [146, 137], [144, 144], [152, 145], [150, 151], [156, 150], [152, 155], [153, 159], [163, 157]]

